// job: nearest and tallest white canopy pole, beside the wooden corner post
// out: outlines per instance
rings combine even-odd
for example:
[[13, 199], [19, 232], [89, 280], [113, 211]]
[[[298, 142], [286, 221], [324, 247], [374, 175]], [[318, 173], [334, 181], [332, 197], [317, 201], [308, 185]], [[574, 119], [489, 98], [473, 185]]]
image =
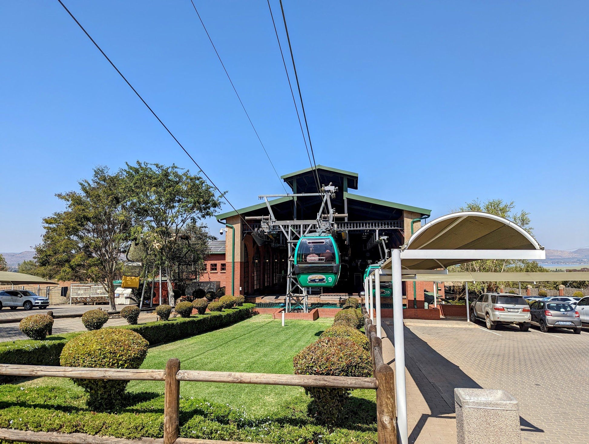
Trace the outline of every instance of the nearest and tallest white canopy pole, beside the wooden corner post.
[[393, 333], [395, 334], [395, 393], [397, 400], [397, 427], [402, 444], [408, 444], [407, 392], [405, 387], [405, 337], [403, 334], [403, 288], [401, 284], [401, 250], [393, 249]]

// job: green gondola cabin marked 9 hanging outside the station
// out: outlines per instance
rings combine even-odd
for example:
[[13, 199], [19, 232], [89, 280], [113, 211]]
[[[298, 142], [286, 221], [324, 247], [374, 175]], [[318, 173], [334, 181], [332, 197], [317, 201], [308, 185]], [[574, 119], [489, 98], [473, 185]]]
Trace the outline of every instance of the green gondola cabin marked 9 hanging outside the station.
[[301, 287], [333, 287], [339, 278], [339, 259], [333, 236], [303, 236], [294, 250], [294, 274]]

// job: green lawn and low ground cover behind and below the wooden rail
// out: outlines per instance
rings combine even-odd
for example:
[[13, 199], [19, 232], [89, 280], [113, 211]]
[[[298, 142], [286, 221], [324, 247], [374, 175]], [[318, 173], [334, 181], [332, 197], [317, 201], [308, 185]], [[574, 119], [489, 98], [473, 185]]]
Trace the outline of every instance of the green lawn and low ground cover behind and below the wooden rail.
[[[176, 357], [184, 370], [292, 374], [294, 355], [332, 322], [330, 318], [287, 320], [282, 327], [271, 315], [256, 315], [230, 327], [152, 347], [141, 368], [163, 369], [168, 359]], [[163, 382], [131, 381], [128, 392], [128, 407], [112, 415], [88, 412], [87, 395], [68, 379], [38, 378], [0, 387], [0, 399], [4, 399], [0, 427], [14, 426], [9, 419], [26, 415], [24, 427], [30, 430], [161, 436]], [[331, 434], [307, 415], [310, 398], [301, 387], [182, 382], [180, 396], [182, 436], [276, 443], [376, 442], [373, 390], [352, 393], [346, 407], [348, 423]], [[31, 409], [31, 402], [40, 410]]]

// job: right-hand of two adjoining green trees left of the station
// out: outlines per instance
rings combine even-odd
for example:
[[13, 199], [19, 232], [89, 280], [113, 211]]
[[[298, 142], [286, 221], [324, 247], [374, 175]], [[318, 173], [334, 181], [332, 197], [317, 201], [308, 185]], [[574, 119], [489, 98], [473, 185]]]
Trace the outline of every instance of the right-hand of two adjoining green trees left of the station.
[[135, 219], [141, 224], [137, 237], [147, 244], [155, 262], [166, 269], [170, 305], [175, 305], [170, 267], [183, 248], [183, 231], [188, 225], [213, 216], [220, 208], [214, 189], [198, 175], [176, 165], [135, 163], [123, 170]]

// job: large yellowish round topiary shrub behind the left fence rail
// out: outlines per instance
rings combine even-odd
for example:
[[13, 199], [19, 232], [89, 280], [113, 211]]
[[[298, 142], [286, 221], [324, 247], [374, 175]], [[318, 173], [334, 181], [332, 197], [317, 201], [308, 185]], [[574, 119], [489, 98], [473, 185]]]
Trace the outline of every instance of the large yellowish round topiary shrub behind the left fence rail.
[[[65, 344], [59, 363], [66, 367], [105, 369], [138, 369], [149, 343], [135, 331], [124, 328], [104, 328], [90, 331]], [[72, 379], [88, 392], [88, 407], [92, 410], [112, 410], [124, 401], [128, 381], [103, 379]]]

